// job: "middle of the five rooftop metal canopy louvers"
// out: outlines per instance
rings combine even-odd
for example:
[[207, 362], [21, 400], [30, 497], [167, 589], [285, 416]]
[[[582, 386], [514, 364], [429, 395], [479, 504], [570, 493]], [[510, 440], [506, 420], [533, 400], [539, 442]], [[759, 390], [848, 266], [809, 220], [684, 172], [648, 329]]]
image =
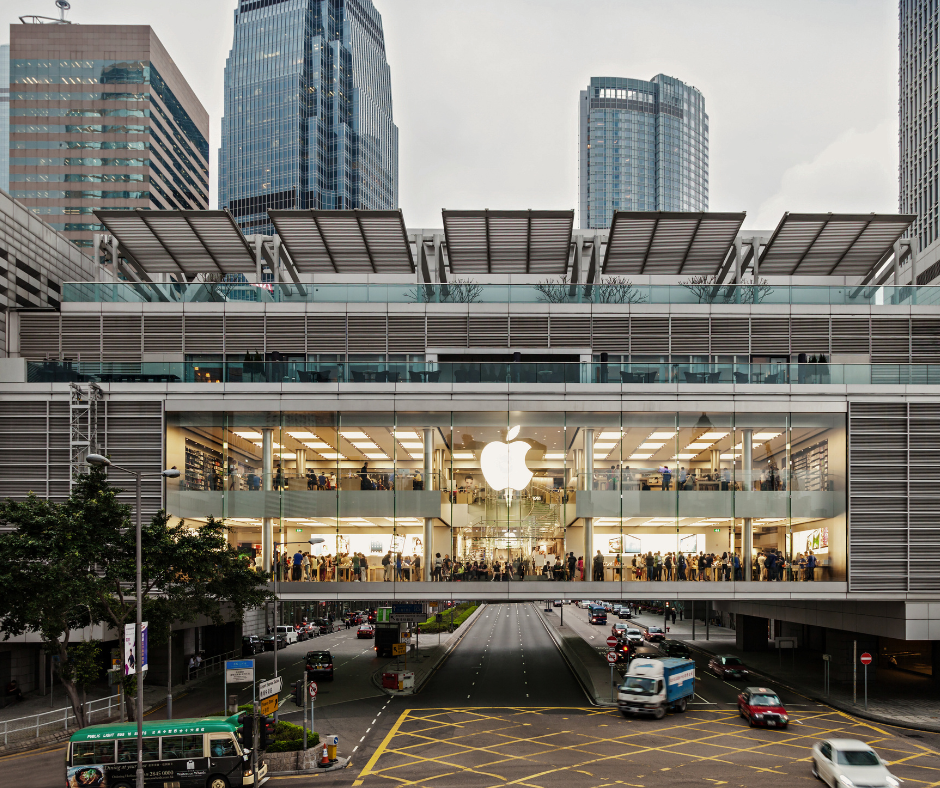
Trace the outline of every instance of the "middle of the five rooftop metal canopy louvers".
[[574, 211], [442, 211], [451, 273], [564, 276]]

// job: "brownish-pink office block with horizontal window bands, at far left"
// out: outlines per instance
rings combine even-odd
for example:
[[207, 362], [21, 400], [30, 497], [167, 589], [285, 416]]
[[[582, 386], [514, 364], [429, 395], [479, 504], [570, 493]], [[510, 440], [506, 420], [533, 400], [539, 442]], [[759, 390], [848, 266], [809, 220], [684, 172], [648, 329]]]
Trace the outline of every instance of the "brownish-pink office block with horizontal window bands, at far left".
[[79, 246], [98, 208], [209, 207], [209, 115], [146, 25], [10, 25], [10, 192]]

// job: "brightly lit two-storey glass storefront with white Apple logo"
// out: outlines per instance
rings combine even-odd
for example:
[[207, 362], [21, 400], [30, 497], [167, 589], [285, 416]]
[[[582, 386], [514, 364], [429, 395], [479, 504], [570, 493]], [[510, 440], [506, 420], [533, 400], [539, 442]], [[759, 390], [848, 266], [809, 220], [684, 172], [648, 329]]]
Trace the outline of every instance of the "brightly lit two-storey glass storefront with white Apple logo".
[[168, 413], [166, 454], [172, 515], [302, 579], [846, 577], [844, 414]]

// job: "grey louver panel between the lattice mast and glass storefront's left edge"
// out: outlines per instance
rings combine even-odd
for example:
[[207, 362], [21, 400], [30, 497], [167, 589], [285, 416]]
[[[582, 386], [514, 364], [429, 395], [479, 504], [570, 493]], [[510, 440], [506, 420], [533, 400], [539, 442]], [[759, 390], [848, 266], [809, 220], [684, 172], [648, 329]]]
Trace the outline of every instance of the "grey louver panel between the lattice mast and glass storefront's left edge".
[[[105, 414], [101, 437], [111, 461], [115, 465], [157, 476], [143, 480], [141, 485], [141, 517], [147, 522], [163, 507], [163, 480], [159, 478], [163, 470], [163, 403], [106, 400], [103, 405], [103, 408], [99, 406], [99, 416], [101, 410]], [[134, 506], [134, 477], [113, 469], [108, 476], [112, 484], [124, 490], [118, 496], [119, 500]]]

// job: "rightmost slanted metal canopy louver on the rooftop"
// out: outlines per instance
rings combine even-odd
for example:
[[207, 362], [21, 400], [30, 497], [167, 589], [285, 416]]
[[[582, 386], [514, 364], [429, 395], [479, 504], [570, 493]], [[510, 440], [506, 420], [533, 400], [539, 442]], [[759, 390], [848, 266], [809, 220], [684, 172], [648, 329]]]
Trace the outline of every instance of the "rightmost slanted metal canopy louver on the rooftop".
[[886, 260], [916, 217], [898, 214], [786, 213], [758, 261], [783, 276], [865, 276]]

